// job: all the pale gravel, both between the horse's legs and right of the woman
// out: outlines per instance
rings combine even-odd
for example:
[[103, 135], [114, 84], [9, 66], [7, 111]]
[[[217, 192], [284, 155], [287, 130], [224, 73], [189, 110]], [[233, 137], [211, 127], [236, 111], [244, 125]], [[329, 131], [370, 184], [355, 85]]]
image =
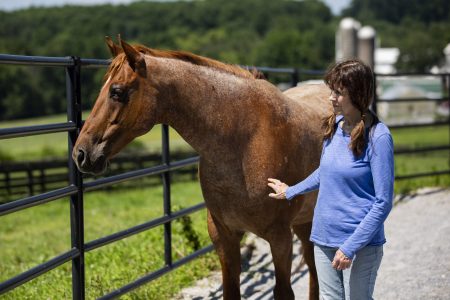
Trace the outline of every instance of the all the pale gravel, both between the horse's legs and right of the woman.
[[[450, 300], [450, 189], [422, 189], [397, 199], [386, 224], [384, 258], [375, 299]], [[269, 245], [249, 235], [242, 249], [243, 299], [273, 298], [274, 271]], [[308, 299], [309, 274], [299, 269], [299, 242], [294, 243], [292, 285], [296, 299]], [[175, 298], [222, 299], [220, 272], [181, 291]]]

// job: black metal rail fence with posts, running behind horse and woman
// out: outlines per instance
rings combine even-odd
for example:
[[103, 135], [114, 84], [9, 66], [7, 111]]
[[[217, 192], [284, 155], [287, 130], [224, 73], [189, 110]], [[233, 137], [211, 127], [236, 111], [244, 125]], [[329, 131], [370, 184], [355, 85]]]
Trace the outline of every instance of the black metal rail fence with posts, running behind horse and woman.
[[[177, 261], [172, 260], [172, 240], [171, 240], [171, 222], [189, 215], [204, 208], [204, 203], [178, 210], [173, 212], [171, 207], [171, 174], [174, 171], [185, 167], [194, 166], [198, 163], [198, 156], [187, 157], [173, 161], [169, 149], [169, 130], [166, 125], [162, 126], [162, 152], [159, 156], [161, 161], [156, 166], [146, 167], [138, 170], [125, 171], [109, 177], [94, 179], [89, 182], [84, 182], [82, 175], [77, 170], [74, 162], [70, 157], [72, 148], [78, 137], [78, 133], [82, 127], [81, 118], [81, 80], [80, 73], [82, 68], [101, 68], [109, 65], [108, 60], [97, 59], [82, 59], [79, 57], [38, 57], [38, 56], [16, 56], [16, 55], [0, 55], [0, 64], [14, 64], [24, 66], [45, 66], [58, 67], [65, 69], [66, 76], [66, 98], [67, 98], [67, 122], [54, 123], [46, 125], [34, 125], [26, 127], [15, 127], [0, 129], [0, 139], [19, 138], [31, 135], [48, 134], [56, 132], [67, 132], [68, 134], [68, 159], [65, 161], [68, 177], [67, 185], [62, 188], [53, 189], [48, 192], [41, 192], [39, 194], [17, 199], [8, 203], [0, 204], [0, 217], [6, 214], [11, 214], [16, 211], [28, 209], [33, 206], [45, 204], [50, 201], [55, 201], [64, 197], [70, 197], [70, 223], [71, 223], [71, 249], [64, 252], [49, 261], [35, 266], [34, 268], [19, 274], [0, 283], [0, 295], [7, 293], [11, 289], [20, 286], [33, 278], [36, 278], [66, 262], [72, 262], [72, 298], [85, 299], [85, 253], [94, 249], [100, 248], [107, 244], [119, 241], [123, 238], [130, 237], [145, 230], [154, 228], [156, 226], [164, 227], [164, 267], [144, 275], [138, 280], [131, 282], [123, 287], [120, 287], [110, 293], [103, 295], [100, 299], [111, 299], [119, 297], [149, 281], [152, 281], [164, 274], [180, 267], [181, 265], [195, 259], [196, 257], [207, 253], [213, 249], [212, 245], [195, 251], [194, 253], [183, 257]], [[297, 85], [301, 79], [317, 78], [323, 74], [323, 71], [300, 70], [295, 68], [258, 68], [266, 77], [269, 74], [273, 77], [286, 76], [290, 77], [290, 85]], [[449, 100], [448, 91], [450, 76], [449, 74], [438, 75], [442, 76], [442, 81], [447, 87], [446, 97], [436, 99], [435, 101], [443, 102]], [[302, 78], [300, 78], [302, 77]], [[289, 84], [288, 84], [289, 85]], [[378, 101], [382, 101], [377, 99]], [[397, 100], [391, 100], [397, 101]], [[419, 99], [402, 99], [398, 101], [419, 101]], [[374, 110], [377, 109], [377, 101], [374, 103]], [[449, 126], [450, 119], [447, 117], [445, 121], [430, 122], [426, 124], [408, 124], [402, 126], [394, 126], [395, 128], [408, 128], [415, 126]], [[450, 146], [441, 145], [438, 147], [428, 147], [420, 149], [402, 149], [396, 151], [396, 154], [408, 154], [425, 151], [449, 150]], [[450, 159], [449, 159], [450, 160]], [[396, 177], [396, 179], [407, 179], [421, 176], [436, 176], [441, 174], [450, 174], [450, 168], [439, 172], [427, 172], [420, 174], [407, 174]], [[83, 195], [86, 192], [112, 186], [116, 183], [124, 181], [131, 181], [139, 178], [150, 176], [159, 176], [163, 186], [163, 203], [164, 215], [157, 219], [150, 220], [146, 223], [137, 225], [135, 227], [116, 232], [114, 234], [104, 236], [102, 238], [85, 242], [84, 236], [84, 210], [83, 210]], [[35, 180], [33, 175], [28, 176], [30, 180]]]

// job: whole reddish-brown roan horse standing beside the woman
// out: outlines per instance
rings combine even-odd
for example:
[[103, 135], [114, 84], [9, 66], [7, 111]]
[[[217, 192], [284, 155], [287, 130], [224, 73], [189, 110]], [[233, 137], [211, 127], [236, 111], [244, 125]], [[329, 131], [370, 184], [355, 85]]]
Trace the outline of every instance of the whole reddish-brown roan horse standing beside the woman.
[[[275, 268], [275, 299], [294, 299], [293, 232], [309, 268], [309, 297], [318, 299], [309, 241], [317, 193], [280, 201], [269, 177], [294, 184], [318, 165], [322, 119], [331, 113], [323, 84], [281, 92], [247, 69], [174, 50], [106, 39], [113, 59], [73, 148], [81, 172], [107, 161], [155, 124], [174, 128], [200, 156], [199, 179], [208, 233], [222, 269], [223, 297], [240, 299], [240, 241], [265, 239]], [[292, 232], [293, 231], [293, 232]]]

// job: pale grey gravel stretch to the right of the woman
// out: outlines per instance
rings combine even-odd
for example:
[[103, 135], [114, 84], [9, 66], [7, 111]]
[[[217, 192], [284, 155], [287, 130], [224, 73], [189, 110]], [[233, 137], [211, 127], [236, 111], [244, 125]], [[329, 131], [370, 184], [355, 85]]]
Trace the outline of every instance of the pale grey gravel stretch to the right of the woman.
[[422, 190], [386, 221], [377, 299], [450, 299], [450, 190]]

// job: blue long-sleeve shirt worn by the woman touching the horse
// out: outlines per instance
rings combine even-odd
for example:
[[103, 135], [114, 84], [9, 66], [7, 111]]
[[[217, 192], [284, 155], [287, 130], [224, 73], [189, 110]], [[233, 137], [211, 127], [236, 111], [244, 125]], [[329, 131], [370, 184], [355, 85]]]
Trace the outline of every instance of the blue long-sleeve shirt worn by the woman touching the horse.
[[[336, 122], [340, 120], [342, 116]], [[383, 224], [393, 201], [394, 146], [381, 122], [359, 157], [354, 157], [349, 143], [350, 136], [337, 126], [324, 142], [319, 168], [289, 187], [286, 198], [319, 189], [310, 240], [353, 258], [366, 245], [386, 242]]]

